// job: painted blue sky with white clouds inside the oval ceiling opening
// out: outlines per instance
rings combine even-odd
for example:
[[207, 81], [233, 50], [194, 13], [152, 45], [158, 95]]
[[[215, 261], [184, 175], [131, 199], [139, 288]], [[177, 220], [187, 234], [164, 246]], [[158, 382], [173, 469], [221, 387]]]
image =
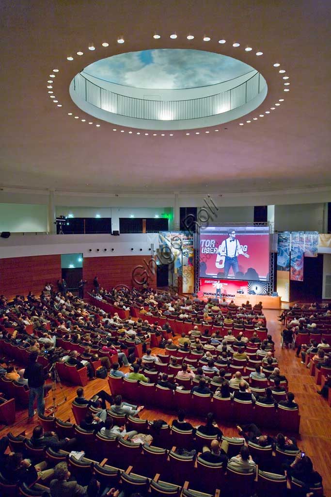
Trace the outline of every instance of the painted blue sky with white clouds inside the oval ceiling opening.
[[232, 57], [190, 49], [128, 52], [101, 59], [84, 69], [95, 78], [148, 89], [206, 86], [250, 71], [251, 66]]

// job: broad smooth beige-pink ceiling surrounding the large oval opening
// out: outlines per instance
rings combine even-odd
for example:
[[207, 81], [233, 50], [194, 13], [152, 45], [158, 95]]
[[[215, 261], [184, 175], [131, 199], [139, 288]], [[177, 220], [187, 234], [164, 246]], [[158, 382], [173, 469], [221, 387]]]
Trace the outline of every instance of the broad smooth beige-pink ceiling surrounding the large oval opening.
[[[0, 186], [219, 194], [331, 187], [330, 21], [331, 3], [316, 0], [1, 2]], [[127, 52], [148, 51], [117, 83], [149, 93], [235, 74], [201, 57], [200, 66], [158, 60], [149, 73], [156, 49], [252, 66], [265, 78], [265, 100], [219, 126], [171, 130], [164, 120], [158, 131], [114, 126], [71, 100], [76, 74]]]

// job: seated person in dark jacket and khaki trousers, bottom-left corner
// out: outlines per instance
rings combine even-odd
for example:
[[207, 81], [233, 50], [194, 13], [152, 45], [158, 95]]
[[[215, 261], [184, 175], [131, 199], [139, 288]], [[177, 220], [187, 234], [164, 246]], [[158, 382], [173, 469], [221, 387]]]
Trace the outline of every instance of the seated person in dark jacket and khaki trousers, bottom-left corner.
[[32, 485], [40, 478], [47, 480], [54, 474], [53, 469], [46, 469], [45, 461], [36, 464], [31, 464], [30, 459], [23, 459], [20, 452], [10, 452], [6, 464], [1, 468], [1, 473], [5, 475], [6, 480], [15, 484], [26, 483]]

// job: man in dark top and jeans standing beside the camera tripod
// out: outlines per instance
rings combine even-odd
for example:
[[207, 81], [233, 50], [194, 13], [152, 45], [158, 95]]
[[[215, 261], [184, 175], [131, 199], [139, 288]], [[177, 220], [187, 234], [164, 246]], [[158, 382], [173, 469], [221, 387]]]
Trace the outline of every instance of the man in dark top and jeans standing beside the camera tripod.
[[33, 351], [29, 357], [30, 361], [24, 371], [24, 378], [28, 380], [28, 387], [30, 389], [29, 397], [29, 419], [32, 419], [36, 412], [33, 410], [35, 398], [37, 398], [38, 414], [44, 414], [44, 384], [46, 378], [50, 377], [49, 373], [44, 373], [44, 368], [37, 362], [38, 351]]

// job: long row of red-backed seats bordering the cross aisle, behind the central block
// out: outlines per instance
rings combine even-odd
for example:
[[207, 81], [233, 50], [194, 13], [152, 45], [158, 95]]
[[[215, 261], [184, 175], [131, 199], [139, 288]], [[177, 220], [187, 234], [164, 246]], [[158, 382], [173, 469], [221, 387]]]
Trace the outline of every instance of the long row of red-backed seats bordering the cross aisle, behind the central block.
[[[108, 376], [108, 382], [112, 395], [122, 395], [132, 403], [143, 404], [148, 407], [157, 407], [165, 411], [183, 409], [186, 413], [204, 416], [214, 413], [215, 418], [220, 421], [229, 419], [245, 423], [255, 422], [260, 426], [273, 426], [287, 431], [298, 432], [300, 428], [300, 414], [298, 409], [289, 409], [284, 406], [262, 404], [251, 401], [242, 401], [229, 398], [210, 398], [209, 394], [199, 394], [190, 390], [170, 390], [155, 385], [129, 380], [127, 378], [115, 378]], [[260, 389], [263, 395], [264, 389]]]

